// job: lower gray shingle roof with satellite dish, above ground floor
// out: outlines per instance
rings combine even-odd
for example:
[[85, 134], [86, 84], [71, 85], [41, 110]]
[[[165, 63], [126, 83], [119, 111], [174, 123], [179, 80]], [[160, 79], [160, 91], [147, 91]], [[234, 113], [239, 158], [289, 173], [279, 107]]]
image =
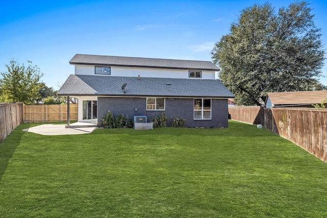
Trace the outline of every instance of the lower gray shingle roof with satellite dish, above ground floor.
[[[122, 85], [127, 83], [126, 93]], [[170, 85], [169, 85], [170, 84]], [[59, 95], [234, 98], [219, 80], [70, 75]]]

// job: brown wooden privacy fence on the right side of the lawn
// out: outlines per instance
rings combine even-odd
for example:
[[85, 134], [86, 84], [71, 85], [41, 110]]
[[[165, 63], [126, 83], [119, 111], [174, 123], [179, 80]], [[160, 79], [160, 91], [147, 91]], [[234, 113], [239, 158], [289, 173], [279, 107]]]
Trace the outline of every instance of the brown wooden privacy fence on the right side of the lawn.
[[230, 118], [261, 124], [327, 162], [327, 109], [229, 107]]

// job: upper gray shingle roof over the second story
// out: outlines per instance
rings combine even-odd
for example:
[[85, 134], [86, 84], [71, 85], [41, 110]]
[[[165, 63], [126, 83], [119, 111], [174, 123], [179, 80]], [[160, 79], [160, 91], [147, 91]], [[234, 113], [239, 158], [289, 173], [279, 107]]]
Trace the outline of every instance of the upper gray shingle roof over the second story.
[[215, 70], [219, 68], [210, 61], [173, 60], [159, 58], [132, 58], [103, 55], [80, 55], [76, 54], [70, 64], [103, 65], [103, 66], [129, 66], [170, 69], [198, 69]]

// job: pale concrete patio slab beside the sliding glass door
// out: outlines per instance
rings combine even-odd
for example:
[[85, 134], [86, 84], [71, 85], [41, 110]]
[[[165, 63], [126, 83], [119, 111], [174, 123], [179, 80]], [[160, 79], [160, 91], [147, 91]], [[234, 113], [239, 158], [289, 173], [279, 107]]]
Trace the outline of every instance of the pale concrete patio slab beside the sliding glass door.
[[43, 124], [36, 127], [24, 129], [23, 131], [33, 132], [40, 135], [76, 135], [91, 133], [96, 127], [65, 128], [66, 125]]

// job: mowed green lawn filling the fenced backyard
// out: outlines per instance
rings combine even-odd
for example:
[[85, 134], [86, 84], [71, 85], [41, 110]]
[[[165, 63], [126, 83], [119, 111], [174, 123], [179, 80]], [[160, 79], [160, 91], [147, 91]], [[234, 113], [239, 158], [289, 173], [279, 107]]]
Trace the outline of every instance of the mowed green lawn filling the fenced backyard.
[[327, 163], [256, 126], [0, 144], [1, 217], [327, 217]]

